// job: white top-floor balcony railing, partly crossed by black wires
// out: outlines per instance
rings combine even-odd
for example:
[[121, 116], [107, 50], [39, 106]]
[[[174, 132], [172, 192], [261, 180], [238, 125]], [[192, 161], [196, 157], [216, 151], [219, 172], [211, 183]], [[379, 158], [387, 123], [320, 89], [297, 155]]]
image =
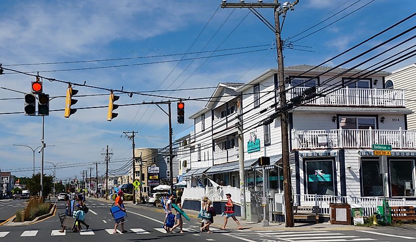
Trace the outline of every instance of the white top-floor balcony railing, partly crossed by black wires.
[[[298, 96], [306, 89], [308, 87], [295, 87], [288, 94], [288, 99]], [[319, 87], [317, 93], [325, 93], [326, 89]], [[308, 105], [405, 107], [404, 100], [404, 90], [345, 87], [309, 101]]]

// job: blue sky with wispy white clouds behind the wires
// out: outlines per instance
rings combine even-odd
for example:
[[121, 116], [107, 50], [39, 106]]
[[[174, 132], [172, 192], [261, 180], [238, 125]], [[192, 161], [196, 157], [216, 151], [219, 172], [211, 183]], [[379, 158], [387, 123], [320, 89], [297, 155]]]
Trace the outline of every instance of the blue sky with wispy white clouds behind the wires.
[[[357, 0], [300, 0], [295, 11], [288, 12], [282, 38], [288, 39], [296, 35], [355, 1]], [[289, 40], [294, 41], [303, 37], [370, 1], [359, 0], [350, 8], [318, 27]], [[221, 0], [3, 0], [0, 8], [0, 62], [3, 65], [11, 65], [184, 54], [215, 12], [190, 52], [242, 47], [245, 49], [217, 51], [213, 55], [259, 51], [211, 57], [208, 60], [181, 61], [178, 65], [178, 62], [172, 61], [118, 68], [44, 72], [176, 60], [181, 59], [183, 55], [88, 63], [7, 66], [7, 68], [24, 72], [39, 71], [40, 75], [49, 78], [79, 83], [87, 81], [87, 84], [110, 89], [120, 89], [123, 86], [124, 90], [136, 92], [166, 88], [216, 86], [221, 81], [246, 82], [268, 68], [275, 68], [277, 66], [275, 50], [260, 51], [260, 49], [267, 49], [272, 45], [274, 42], [273, 32], [252, 13], [248, 14], [248, 9], [218, 9], [220, 3]], [[300, 50], [285, 49], [285, 65], [319, 64], [404, 19], [415, 10], [416, 5], [413, 0], [398, 0], [394, 1], [394, 4], [389, 0], [374, 0], [339, 22], [295, 42], [294, 44], [297, 46], [294, 48]], [[273, 13], [270, 9], [262, 9], [260, 12], [273, 23]], [[239, 24], [240, 22], [241, 24]], [[413, 27], [414, 23], [414, 19], [407, 21], [380, 38], [374, 39], [326, 65], [334, 66], [342, 63], [349, 57]], [[223, 27], [221, 27], [222, 25]], [[214, 33], [216, 34], [214, 35]], [[406, 35], [407, 38], [412, 34], [411, 32]], [[399, 41], [400, 39], [382, 49]], [[412, 44], [414, 42], [409, 42], [398, 50]], [[258, 45], [268, 46], [246, 48]], [[199, 56], [209, 56], [210, 54], [212, 52]], [[378, 60], [393, 54], [384, 54]], [[196, 56], [197, 54], [188, 54], [184, 58]], [[387, 71], [414, 62], [416, 62], [415, 58], [409, 59], [387, 69]], [[358, 61], [348, 63], [343, 67], [351, 67], [354, 63], [358, 63]], [[170, 72], [172, 73], [169, 75]], [[31, 81], [34, 81], [33, 77], [7, 74], [0, 76], [0, 87], [30, 92]], [[45, 81], [44, 83], [44, 92], [51, 96], [63, 96], [65, 89], [64, 83], [56, 81]], [[108, 93], [82, 86], [75, 89], [79, 90], [78, 95]], [[167, 91], [159, 94], [197, 98], [209, 97], [213, 91], [213, 89]], [[23, 98], [23, 96], [18, 92], [0, 89], [0, 99]], [[133, 95], [130, 98], [124, 94], [121, 95], [117, 103], [141, 103], [152, 100], [160, 101], [161, 99], [140, 95]], [[0, 104], [1, 113], [23, 111], [24, 108], [23, 100], [0, 100]], [[73, 108], [107, 104], [108, 95], [79, 97], [78, 103]], [[204, 105], [204, 102], [186, 102], [186, 116]], [[64, 108], [64, 98], [52, 100], [50, 106], [51, 109]], [[172, 110], [175, 112], [174, 106]], [[131, 157], [131, 142], [124, 137], [123, 131], [138, 131], [136, 147], [158, 148], [168, 144], [167, 116], [155, 105], [120, 107], [117, 112], [119, 116], [112, 122], [106, 121], [106, 108], [78, 110], [69, 119], [64, 118], [63, 111], [51, 112], [50, 116], [45, 118], [45, 142], [48, 145], [55, 145], [45, 150], [45, 161], [65, 162], [64, 165], [73, 165], [72, 168], [58, 169], [58, 178], [80, 177], [81, 170], [86, 170], [92, 165], [78, 166], [78, 163], [88, 164], [89, 162], [102, 161], [101, 152], [107, 144], [113, 149], [112, 159], [120, 161], [111, 163], [110, 169], [117, 169], [124, 165], [126, 163], [124, 160]], [[177, 125], [176, 115], [174, 115], [172, 123], [174, 134], [178, 134], [190, 127], [193, 121], [187, 120], [186, 124]], [[31, 170], [32, 151], [26, 147], [13, 146], [13, 144], [29, 145], [33, 148], [40, 145], [41, 118], [24, 116], [23, 114], [0, 115], [0, 127], [2, 127], [0, 129], [2, 137], [0, 139], [1, 170]], [[39, 166], [40, 155], [37, 152], [35, 155], [36, 166]], [[50, 165], [47, 166], [50, 167]], [[98, 171], [102, 174], [105, 171], [105, 166], [99, 165]], [[50, 170], [45, 170], [45, 172], [51, 173]], [[13, 172], [13, 174], [30, 176], [32, 172]]]

